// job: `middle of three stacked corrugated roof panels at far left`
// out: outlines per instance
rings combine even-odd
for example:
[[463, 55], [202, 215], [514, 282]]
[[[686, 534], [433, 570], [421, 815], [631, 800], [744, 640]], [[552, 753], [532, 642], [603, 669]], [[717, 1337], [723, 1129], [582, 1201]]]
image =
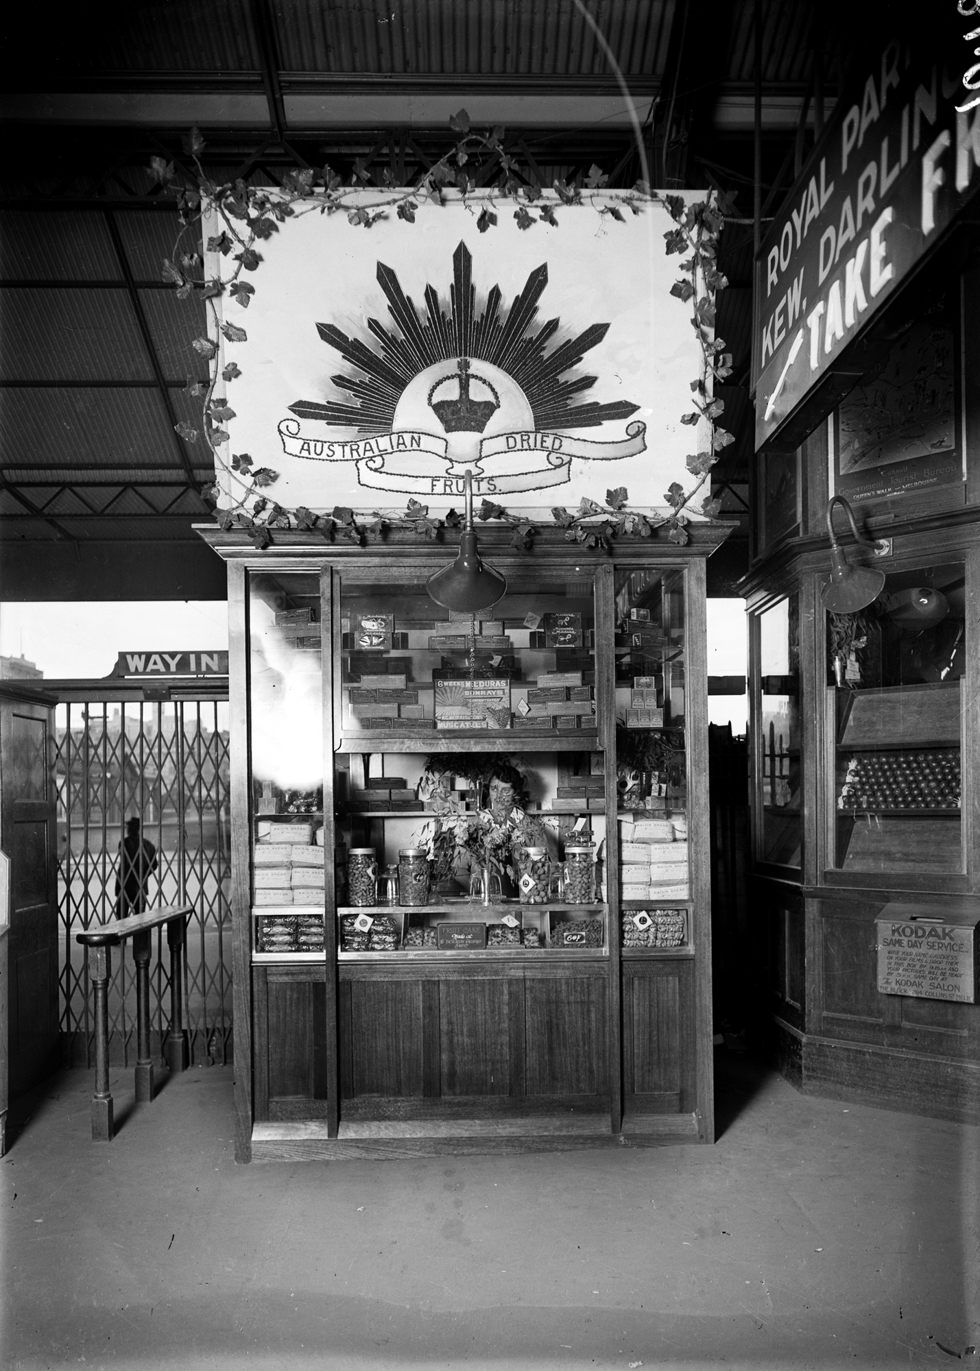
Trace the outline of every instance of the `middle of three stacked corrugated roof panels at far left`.
[[152, 380], [129, 296], [122, 289], [0, 289], [0, 378]]

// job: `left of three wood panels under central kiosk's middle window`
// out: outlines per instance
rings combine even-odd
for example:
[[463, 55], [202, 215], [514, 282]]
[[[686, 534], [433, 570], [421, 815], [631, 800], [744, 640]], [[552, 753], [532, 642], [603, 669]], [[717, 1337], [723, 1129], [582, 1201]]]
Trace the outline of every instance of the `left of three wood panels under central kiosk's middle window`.
[[421, 983], [353, 982], [350, 1042], [355, 1095], [421, 1095]]

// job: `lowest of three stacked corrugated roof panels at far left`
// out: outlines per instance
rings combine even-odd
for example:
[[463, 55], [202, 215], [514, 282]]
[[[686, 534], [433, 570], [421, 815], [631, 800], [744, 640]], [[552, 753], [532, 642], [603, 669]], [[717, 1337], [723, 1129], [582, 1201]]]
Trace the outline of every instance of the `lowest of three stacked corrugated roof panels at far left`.
[[[152, 463], [180, 470], [177, 444], [167, 430], [163, 402], [152, 388], [0, 389], [4, 469], [43, 463], [48, 469], [84, 473], [89, 463], [121, 468]], [[195, 459], [200, 461], [196, 451]]]

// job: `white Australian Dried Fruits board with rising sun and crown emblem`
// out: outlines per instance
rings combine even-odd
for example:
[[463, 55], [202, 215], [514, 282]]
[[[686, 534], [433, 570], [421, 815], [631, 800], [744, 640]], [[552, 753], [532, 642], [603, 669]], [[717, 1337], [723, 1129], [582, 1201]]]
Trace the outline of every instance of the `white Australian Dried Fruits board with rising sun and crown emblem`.
[[[478, 499], [528, 511], [609, 487], [657, 509], [689, 484], [703, 435], [679, 417], [704, 365], [692, 307], [670, 293], [666, 210], [556, 206], [556, 225], [528, 230], [495, 197], [482, 232], [482, 208], [447, 197], [415, 223], [355, 228], [294, 202], [261, 244], [261, 291], [215, 311], [221, 366], [242, 373], [229, 468], [247, 452], [277, 473], [280, 505], [314, 511], [458, 506], [467, 472]], [[220, 478], [229, 505], [235, 480]]]

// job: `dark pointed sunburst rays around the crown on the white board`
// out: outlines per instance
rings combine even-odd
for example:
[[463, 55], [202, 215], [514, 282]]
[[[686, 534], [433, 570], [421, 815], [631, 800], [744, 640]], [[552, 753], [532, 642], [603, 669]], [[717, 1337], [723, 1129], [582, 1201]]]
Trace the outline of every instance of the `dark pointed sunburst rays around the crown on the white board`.
[[[377, 319], [368, 319], [368, 329], [380, 344], [377, 350], [360, 339], [349, 337], [334, 324], [317, 324], [324, 343], [336, 348], [345, 362], [361, 373], [331, 377], [357, 403], [298, 400], [290, 410], [299, 418], [320, 420], [362, 433], [387, 433], [393, 428], [398, 400], [412, 380], [428, 367], [445, 362], [458, 363], [461, 359], [485, 362], [511, 376], [527, 399], [537, 429], [596, 428], [609, 420], [629, 418], [640, 407], [629, 400], [612, 404], [600, 404], [597, 400], [572, 403], [575, 396], [596, 384], [596, 377], [570, 376], [563, 380], [563, 373], [578, 366], [585, 354], [605, 337], [609, 325], [593, 324], [578, 337], [560, 343], [548, 352], [560, 321], [549, 319], [537, 332], [531, 332], [538, 300], [548, 285], [545, 263], [531, 271], [504, 317], [498, 285], [490, 289], [478, 315], [472, 256], [465, 243], [460, 243], [453, 254], [447, 314], [439, 304], [436, 291], [427, 285], [425, 318], [420, 318], [397, 274], [383, 262], [377, 263], [377, 281], [397, 329], [394, 332]], [[478, 369], [475, 378], [479, 378]]]

